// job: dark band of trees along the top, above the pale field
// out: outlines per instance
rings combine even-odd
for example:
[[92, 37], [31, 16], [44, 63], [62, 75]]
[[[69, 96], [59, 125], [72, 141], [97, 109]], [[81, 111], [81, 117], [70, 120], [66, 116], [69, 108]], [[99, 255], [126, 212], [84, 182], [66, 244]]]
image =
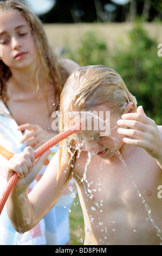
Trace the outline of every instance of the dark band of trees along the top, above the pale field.
[[137, 17], [144, 21], [162, 20], [161, 0], [53, 1], [53, 8], [40, 15], [44, 23], [125, 22]]

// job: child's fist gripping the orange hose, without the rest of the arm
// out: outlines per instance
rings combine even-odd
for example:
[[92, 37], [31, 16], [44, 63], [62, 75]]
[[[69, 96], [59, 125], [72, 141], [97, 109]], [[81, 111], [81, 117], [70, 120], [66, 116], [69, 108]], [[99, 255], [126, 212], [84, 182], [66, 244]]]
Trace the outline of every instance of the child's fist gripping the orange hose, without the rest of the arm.
[[33, 182], [40, 172], [40, 169], [51, 153], [50, 150], [44, 152], [36, 161], [34, 150], [31, 147], [24, 149], [22, 153], [15, 154], [7, 163], [6, 177], [7, 181], [11, 178], [12, 174], [16, 172], [21, 179], [19, 179], [15, 187], [28, 187]]

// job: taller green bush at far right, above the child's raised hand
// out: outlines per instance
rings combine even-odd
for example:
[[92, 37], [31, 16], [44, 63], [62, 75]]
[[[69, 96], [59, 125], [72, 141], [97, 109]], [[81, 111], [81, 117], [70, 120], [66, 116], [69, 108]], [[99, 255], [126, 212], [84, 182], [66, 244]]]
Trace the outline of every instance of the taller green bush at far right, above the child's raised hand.
[[150, 39], [140, 23], [129, 32], [130, 47], [116, 52], [113, 68], [124, 79], [138, 105], [157, 124], [162, 123], [162, 58], [157, 55], [157, 42]]

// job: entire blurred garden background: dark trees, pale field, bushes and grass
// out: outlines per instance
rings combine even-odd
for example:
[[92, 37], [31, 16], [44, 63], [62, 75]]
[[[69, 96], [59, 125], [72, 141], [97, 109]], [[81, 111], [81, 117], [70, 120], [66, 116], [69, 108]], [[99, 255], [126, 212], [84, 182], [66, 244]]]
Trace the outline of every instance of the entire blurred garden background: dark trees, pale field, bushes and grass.
[[[79, 65], [111, 66], [148, 117], [162, 124], [161, 0], [24, 0], [40, 17], [53, 51]], [[76, 195], [70, 209], [71, 244], [82, 244]]]

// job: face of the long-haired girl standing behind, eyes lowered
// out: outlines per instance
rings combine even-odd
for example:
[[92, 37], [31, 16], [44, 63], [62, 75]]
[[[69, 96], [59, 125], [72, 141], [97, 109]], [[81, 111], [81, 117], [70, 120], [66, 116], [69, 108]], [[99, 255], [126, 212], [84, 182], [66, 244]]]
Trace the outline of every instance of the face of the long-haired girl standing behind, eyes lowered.
[[37, 51], [27, 20], [18, 10], [0, 14], [0, 44], [3, 63], [10, 70], [27, 68], [36, 61]]

